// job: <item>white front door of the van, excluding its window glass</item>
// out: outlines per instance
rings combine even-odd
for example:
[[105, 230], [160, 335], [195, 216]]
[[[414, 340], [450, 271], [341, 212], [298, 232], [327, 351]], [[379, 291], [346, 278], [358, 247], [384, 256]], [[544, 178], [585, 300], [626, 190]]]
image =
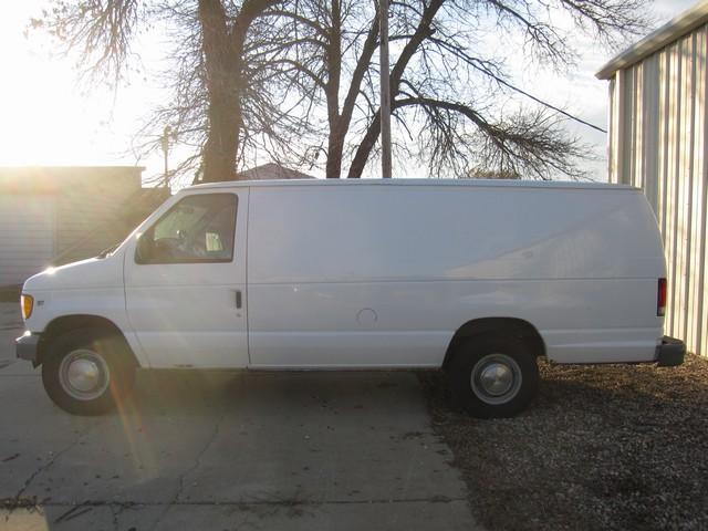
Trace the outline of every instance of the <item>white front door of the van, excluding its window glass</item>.
[[[238, 197], [230, 262], [137, 263], [138, 235], [125, 248], [126, 310], [150, 367], [248, 366], [244, 296], [248, 188], [229, 194]], [[179, 198], [171, 201], [160, 215], [178, 202]], [[237, 296], [241, 308], [237, 308]]]

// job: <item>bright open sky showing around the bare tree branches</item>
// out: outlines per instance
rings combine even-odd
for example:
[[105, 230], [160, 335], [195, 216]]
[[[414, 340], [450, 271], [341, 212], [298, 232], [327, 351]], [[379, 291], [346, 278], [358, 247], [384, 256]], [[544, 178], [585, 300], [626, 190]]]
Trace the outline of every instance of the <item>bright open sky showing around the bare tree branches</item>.
[[[656, 0], [657, 27], [695, 3]], [[138, 159], [131, 148], [147, 111], [160, 98], [157, 81], [134, 76], [132, 84], [117, 93], [107, 87], [87, 91], [77, 82], [72, 59], [53, 50], [49, 39], [24, 34], [30, 18], [41, 13], [45, 4], [45, 0], [11, 2], [0, 18], [0, 64], [4, 72], [0, 83], [0, 166], [138, 164], [146, 167], [144, 178], [158, 176], [163, 171], [162, 155]], [[607, 82], [596, 80], [594, 74], [613, 52], [598, 49], [586, 38], [576, 38], [574, 44], [581, 56], [569, 72], [538, 72], [520, 60], [514, 62], [513, 56], [509, 71], [525, 91], [606, 129]], [[153, 48], [137, 51], [149, 61]], [[606, 135], [577, 124], [569, 127], [600, 158], [589, 163], [593, 178], [606, 180]], [[180, 153], [177, 148], [173, 158]], [[394, 167], [394, 176], [410, 171], [425, 170]]]

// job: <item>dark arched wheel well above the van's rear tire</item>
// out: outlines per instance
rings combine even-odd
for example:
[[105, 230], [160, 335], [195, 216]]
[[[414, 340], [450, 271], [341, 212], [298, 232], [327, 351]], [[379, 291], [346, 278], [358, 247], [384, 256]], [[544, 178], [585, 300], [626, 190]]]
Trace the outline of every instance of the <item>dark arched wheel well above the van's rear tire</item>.
[[455, 332], [445, 353], [442, 369], [448, 369], [455, 352], [466, 340], [490, 333], [512, 335], [521, 340], [537, 357], [545, 355], [545, 344], [541, 334], [528, 321], [514, 317], [475, 319], [468, 321]]

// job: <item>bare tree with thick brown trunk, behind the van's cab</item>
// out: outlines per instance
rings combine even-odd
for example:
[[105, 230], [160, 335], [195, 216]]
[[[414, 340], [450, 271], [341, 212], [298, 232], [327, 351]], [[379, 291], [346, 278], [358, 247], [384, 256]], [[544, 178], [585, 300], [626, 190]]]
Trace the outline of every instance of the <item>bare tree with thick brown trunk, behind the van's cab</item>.
[[[249, 125], [269, 117], [248, 114], [262, 85], [252, 83], [246, 60], [249, 29], [277, 0], [55, 0], [32, 25], [56, 37], [66, 51], [79, 53], [77, 64], [90, 81], [121, 82], [139, 56], [135, 38], [160, 21], [171, 28], [176, 76], [168, 83], [173, 100], [155, 118], [169, 121], [175, 133], [197, 152], [183, 163], [200, 160], [202, 181], [236, 178], [239, 148]], [[268, 105], [259, 112], [275, 112]], [[162, 122], [160, 126], [165, 122]], [[149, 128], [149, 127], [148, 127]], [[146, 128], [147, 129], [147, 128]], [[143, 147], [155, 148], [156, 143]]]

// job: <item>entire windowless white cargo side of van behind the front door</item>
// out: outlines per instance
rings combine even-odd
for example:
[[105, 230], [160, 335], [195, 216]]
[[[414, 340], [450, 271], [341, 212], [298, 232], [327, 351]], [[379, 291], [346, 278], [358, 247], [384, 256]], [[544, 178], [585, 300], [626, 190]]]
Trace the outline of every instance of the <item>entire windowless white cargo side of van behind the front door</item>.
[[251, 365], [439, 366], [482, 317], [528, 321], [558, 362], [647, 361], [663, 274], [635, 190], [253, 187]]

